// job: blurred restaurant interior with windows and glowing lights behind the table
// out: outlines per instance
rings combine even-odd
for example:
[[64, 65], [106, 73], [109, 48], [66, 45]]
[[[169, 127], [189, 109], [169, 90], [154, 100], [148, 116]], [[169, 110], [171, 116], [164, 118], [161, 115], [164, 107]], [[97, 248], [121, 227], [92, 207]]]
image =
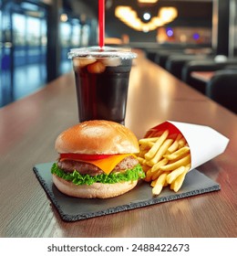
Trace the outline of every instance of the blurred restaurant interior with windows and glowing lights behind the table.
[[[237, 0], [106, 0], [105, 44], [144, 50], [210, 97], [191, 71], [222, 71], [236, 96], [236, 13]], [[0, 0], [0, 107], [69, 72], [70, 48], [94, 45], [97, 0]], [[236, 101], [226, 107], [236, 112]]]

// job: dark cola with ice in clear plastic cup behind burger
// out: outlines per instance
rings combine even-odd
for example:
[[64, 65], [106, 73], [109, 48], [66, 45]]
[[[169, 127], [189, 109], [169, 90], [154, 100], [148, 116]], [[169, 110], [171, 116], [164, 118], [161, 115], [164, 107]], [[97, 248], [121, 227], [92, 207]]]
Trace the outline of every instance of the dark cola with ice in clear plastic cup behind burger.
[[103, 51], [75, 56], [79, 122], [109, 120], [123, 123], [134, 54]]

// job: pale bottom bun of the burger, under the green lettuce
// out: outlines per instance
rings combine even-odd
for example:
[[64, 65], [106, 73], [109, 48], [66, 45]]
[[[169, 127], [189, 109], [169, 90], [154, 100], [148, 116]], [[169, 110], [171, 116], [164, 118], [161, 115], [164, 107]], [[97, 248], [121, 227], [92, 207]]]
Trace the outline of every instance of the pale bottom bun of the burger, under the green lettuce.
[[94, 183], [88, 185], [75, 185], [61, 177], [53, 175], [53, 182], [57, 189], [70, 197], [80, 198], [109, 198], [122, 195], [133, 187], [136, 187], [138, 180], [116, 184]]

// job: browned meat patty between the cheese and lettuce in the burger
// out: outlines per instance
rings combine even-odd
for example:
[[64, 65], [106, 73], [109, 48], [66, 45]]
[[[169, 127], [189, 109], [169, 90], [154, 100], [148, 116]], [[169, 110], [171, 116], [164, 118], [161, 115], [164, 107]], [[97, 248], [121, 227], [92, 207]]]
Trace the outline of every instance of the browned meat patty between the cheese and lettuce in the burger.
[[[120, 170], [126, 170], [133, 168], [135, 165], [138, 165], [139, 161], [137, 158], [133, 157], [132, 155], [129, 155], [125, 157], [118, 165], [115, 166], [115, 168], [112, 170], [113, 172], [118, 172]], [[59, 161], [57, 163], [58, 167], [60, 169], [63, 169], [65, 172], [72, 173], [75, 170], [77, 170], [78, 173], [81, 175], [89, 175], [89, 176], [96, 176], [100, 174], [104, 174], [104, 171], [101, 170], [98, 166], [85, 163], [85, 162], [77, 162], [74, 160], [64, 160]]]

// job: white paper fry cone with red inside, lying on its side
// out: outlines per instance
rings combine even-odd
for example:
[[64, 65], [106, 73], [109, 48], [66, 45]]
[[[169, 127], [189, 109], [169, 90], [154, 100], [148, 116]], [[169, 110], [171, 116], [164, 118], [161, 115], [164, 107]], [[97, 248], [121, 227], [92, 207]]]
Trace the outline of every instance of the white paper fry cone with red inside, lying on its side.
[[[229, 139], [209, 126], [167, 121], [149, 129], [145, 137], [154, 131], [182, 133], [191, 150], [191, 169], [202, 165], [224, 152]], [[191, 171], [190, 169], [190, 171]]]

